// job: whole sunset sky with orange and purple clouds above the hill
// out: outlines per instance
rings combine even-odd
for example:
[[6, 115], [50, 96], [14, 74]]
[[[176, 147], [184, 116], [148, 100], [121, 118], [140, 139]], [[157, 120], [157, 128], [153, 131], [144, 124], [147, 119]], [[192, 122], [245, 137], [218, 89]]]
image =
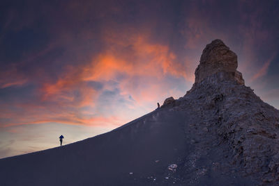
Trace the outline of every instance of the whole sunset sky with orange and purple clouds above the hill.
[[13, 1], [0, 6], [0, 158], [84, 140], [184, 96], [205, 45], [279, 108], [279, 1]]

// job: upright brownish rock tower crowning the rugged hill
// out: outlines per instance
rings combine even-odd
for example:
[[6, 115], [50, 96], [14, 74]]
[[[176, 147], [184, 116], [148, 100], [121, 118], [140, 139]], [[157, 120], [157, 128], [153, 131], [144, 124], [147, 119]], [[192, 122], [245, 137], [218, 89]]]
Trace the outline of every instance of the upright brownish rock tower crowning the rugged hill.
[[213, 40], [207, 44], [195, 70], [195, 83], [200, 83], [204, 78], [218, 72], [226, 72], [239, 84], [244, 85], [242, 74], [236, 71], [237, 56], [229, 50], [222, 40]]

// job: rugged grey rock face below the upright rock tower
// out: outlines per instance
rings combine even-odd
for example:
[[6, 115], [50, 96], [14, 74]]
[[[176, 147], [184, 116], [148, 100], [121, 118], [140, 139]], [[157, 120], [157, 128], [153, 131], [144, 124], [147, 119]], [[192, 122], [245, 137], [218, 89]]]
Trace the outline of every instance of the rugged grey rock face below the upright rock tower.
[[227, 175], [238, 171], [255, 185], [278, 185], [279, 111], [250, 87], [217, 77], [204, 78], [173, 108], [193, 119], [186, 127], [199, 139], [193, 156], [210, 155], [215, 149], [222, 154], [216, 169]]

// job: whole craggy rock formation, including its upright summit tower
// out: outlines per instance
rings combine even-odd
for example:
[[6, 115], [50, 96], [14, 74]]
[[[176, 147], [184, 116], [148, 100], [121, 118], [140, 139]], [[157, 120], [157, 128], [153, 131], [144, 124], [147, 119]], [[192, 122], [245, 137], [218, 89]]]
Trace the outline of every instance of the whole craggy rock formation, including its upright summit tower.
[[189, 131], [209, 129], [210, 137], [200, 138], [196, 153], [209, 153], [205, 146], [223, 146], [227, 162], [219, 161], [227, 174], [232, 169], [257, 180], [257, 185], [278, 185], [279, 111], [244, 86], [236, 68], [236, 54], [221, 40], [207, 44], [192, 89], [172, 109], [195, 115]]

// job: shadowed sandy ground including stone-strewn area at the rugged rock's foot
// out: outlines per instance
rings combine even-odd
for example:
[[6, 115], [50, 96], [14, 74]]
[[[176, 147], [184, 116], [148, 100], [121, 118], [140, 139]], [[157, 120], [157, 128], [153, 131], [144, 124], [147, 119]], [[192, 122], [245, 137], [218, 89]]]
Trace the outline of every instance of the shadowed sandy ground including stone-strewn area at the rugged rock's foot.
[[[195, 142], [191, 144], [190, 139], [197, 134], [186, 130], [188, 123], [193, 120], [195, 119], [186, 112], [162, 108], [110, 133], [54, 149], [4, 158], [0, 160], [1, 183], [3, 185], [174, 183], [224, 185], [228, 181], [245, 183], [237, 174], [234, 179], [233, 176], [223, 175], [220, 171], [208, 171], [208, 168], [206, 173], [202, 172], [204, 169], [199, 169], [200, 174], [193, 174], [195, 164], [212, 165], [213, 160], [220, 156], [218, 151], [204, 149], [209, 154], [203, 154], [202, 158], [200, 156], [203, 155], [199, 155], [199, 160], [195, 160], [197, 145]], [[178, 164], [176, 171], [167, 169], [172, 163]], [[130, 172], [133, 174], [130, 175]]]

